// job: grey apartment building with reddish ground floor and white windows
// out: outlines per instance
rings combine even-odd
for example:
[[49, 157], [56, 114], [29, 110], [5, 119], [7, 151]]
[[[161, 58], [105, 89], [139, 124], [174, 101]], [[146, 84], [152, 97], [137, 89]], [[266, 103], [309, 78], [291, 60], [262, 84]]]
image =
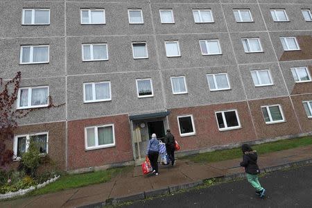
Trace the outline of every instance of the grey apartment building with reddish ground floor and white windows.
[[[312, 132], [309, 0], [0, 1], [0, 77], [21, 71], [15, 164], [62, 170]], [[58, 108], [47, 109], [47, 96]]]

